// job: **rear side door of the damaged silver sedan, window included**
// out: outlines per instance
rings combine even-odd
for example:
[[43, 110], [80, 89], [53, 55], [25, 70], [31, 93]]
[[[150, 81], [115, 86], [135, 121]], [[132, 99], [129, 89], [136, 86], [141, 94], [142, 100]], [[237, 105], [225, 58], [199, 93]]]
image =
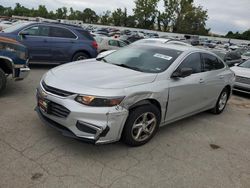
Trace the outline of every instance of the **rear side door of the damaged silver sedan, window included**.
[[211, 54], [202, 53], [204, 63], [204, 100], [207, 106], [214, 104], [225, 86], [227, 72], [224, 63]]

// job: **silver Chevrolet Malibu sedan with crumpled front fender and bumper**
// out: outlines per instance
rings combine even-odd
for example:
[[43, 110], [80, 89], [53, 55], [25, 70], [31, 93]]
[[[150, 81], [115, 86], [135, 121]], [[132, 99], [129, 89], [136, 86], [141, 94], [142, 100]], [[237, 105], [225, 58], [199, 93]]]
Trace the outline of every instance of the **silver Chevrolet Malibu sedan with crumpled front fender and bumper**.
[[65, 136], [139, 146], [160, 126], [206, 110], [220, 114], [234, 80], [211, 52], [138, 44], [50, 70], [37, 89], [36, 111]]

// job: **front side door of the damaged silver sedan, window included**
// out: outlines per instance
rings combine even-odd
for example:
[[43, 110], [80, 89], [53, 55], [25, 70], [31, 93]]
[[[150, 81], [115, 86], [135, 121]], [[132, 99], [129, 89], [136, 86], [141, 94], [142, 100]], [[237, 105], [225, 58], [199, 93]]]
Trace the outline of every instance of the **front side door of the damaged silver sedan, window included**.
[[192, 68], [193, 73], [185, 78], [171, 79], [166, 121], [182, 118], [204, 108], [205, 85], [200, 53], [188, 55], [177, 70], [181, 68]]

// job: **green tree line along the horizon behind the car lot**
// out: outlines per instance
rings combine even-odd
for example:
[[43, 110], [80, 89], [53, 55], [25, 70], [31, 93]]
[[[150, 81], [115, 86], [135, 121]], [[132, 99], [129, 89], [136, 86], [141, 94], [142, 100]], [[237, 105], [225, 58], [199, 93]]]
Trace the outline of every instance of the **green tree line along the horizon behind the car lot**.
[[[85, 23], [115, 25], [125, 27], [139, 27], [143, 29], [158, 29], [159, 31], [173, 31], [177, 33], [207, 35], [207, 11], [200, 6], [195, 6], [193, 0], [163, 0], [164, 11], [157, 10], [160, 0], [135, 0], [133, 15], [127, 15], [127, 9], [105, 11], [100, 16], [90, 8], [83, 11], [74, 10], [72, 7], [58, 8], [55, 12], [48, 11], [44, 5], [37, 9], [28, 9], [20, 3], [16, 6], [3, 7], [0, 5], [1, 16], [31, 16], [49, 19], [82, 20]], [[248, 37], [249, 31], [243, 34], [229, 33], [233, 37]]]

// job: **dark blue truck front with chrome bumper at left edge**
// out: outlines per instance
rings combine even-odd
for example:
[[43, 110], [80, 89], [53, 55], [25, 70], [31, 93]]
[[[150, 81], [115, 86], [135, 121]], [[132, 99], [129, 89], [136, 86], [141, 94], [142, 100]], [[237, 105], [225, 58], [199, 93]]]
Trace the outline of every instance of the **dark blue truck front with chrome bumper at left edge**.
[[8, 75], [22, 80], [29, 71], [27, 48], [13, 39], [0, 37], [0, 93], [6, 88]]

